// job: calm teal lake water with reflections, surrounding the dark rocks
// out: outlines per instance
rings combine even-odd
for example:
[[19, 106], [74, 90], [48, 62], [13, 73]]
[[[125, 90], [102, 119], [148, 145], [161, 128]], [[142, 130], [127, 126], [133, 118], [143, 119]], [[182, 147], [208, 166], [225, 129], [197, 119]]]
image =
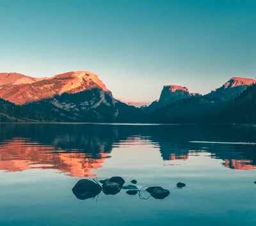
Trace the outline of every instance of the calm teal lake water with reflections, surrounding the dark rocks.
[[[256, 131], [244, 128], [0, 124], [0, 225], [256, 225], [255, 170]], [[170, 195], [72, 193], [111, 176]]]

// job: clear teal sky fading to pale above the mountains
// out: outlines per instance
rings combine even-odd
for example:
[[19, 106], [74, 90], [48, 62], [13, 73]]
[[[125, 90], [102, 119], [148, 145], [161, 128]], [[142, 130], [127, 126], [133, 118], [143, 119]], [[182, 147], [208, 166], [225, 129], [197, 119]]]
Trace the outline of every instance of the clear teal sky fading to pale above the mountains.
[[115, 98], [256, 77], [255, 0], [0, 0], [0, 72], [99, 75]]

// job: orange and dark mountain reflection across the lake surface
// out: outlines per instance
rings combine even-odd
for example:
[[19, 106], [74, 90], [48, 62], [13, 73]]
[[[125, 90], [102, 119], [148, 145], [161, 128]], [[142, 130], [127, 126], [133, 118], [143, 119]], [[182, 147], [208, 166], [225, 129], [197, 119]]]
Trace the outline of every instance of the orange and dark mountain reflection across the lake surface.
[[0, 170], [54, 169], [68, 176], [95, 177], [92, 170], [111, 158], [113, 148], [148, 144], [160, 152], [165, 165], [179, 165], [175, 162], [204, 152], [223, 160], [224, 167], [254, 170], [256, 146], [232, 142], [253, 142], [255, 133], [229, 126], [0, 124]]

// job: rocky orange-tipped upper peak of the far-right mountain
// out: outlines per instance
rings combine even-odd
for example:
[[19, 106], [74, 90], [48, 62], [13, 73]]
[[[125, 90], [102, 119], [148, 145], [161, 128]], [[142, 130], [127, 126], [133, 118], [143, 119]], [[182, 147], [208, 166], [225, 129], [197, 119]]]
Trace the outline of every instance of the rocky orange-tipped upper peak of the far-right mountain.
[[207, 96], [211, 97], [215, 101], [223, 102], [232, 100], [239, 96], [239, 94], [241, 94], [249, 86], [255, 83], [255, 79], [233, 77], [220, 88], [211, 91], [211, 93], [207, 94]]

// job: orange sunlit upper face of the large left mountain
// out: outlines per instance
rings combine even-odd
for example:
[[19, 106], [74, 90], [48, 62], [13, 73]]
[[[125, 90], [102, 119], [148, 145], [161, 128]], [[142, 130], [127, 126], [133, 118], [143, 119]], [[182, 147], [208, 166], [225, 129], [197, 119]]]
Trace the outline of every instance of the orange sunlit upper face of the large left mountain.
[[[92, 72], [68, 72], [43, 80], [25, 75], [16, 77], [19, 79], [9, 84], [6, 80], [1, 80], [4, 85], [1, 86], [0, 97], [17, 105], [53, 98], [63, 93], [79, 93], [93, 88], [99, 88], [111, 95], [102, 80]], [[23, 82], [19, 82], [20, 80]]]

